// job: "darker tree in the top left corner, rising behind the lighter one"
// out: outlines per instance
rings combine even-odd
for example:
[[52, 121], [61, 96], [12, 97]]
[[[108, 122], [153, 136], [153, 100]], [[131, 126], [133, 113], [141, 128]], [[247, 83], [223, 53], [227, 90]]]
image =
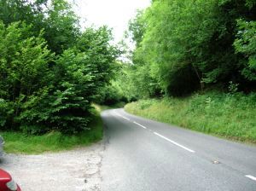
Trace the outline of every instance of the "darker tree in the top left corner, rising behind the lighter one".
[[79, 18], [66, 0], [0, 0], [0, 5], [0, 20], [6, 26], [25, 22], [35, 36], [44, 30], [49, 49], [57, 55], [73, 47], [79, 36]]

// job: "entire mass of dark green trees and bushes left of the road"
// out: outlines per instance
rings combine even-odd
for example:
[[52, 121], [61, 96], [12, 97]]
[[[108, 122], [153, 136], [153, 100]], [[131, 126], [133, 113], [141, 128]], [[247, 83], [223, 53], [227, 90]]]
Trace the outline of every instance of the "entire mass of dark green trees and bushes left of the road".
[[113, 78], [106, 26], [79, 29], [65, 0], [0, 0], [0, 127], [78, 133]]

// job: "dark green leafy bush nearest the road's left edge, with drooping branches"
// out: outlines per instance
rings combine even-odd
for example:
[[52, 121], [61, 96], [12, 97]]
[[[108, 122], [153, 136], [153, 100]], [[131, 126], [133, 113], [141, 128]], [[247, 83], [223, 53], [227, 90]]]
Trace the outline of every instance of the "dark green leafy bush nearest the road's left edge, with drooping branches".
[[[88, 31], [82, 39], [94, 37], [93, 32], [99, 31]], [[102, 40], [107, 43], [108, 36], [106, 38]], [[108, 48], [106, 43], [102, 49]], [[59, 56], [52, 67], [49, 85], [30, 96], [21, 107], [21, 130], [31, 134], [42, 134], [49, 130], [76, 134], [87, 129], [92, 117], [91, 102], [96, 100], [98, 90], [104, 87], [108, 82], [108, 75], [111, 75], [111, 71], [106, 73], [104, 68], [100, 67], [106, 67], [108, 70], [115, 59], [108, 55], [112, 52], [87, 52], [98, 46], [99, 44], [90, 41], [90, 47], [81, 47], [83, 52], [76, 47], [65, 50]], [[104, 56], [109, 57], [108, 63]], [[102, 60], [97, 60], [99, 57]]]

